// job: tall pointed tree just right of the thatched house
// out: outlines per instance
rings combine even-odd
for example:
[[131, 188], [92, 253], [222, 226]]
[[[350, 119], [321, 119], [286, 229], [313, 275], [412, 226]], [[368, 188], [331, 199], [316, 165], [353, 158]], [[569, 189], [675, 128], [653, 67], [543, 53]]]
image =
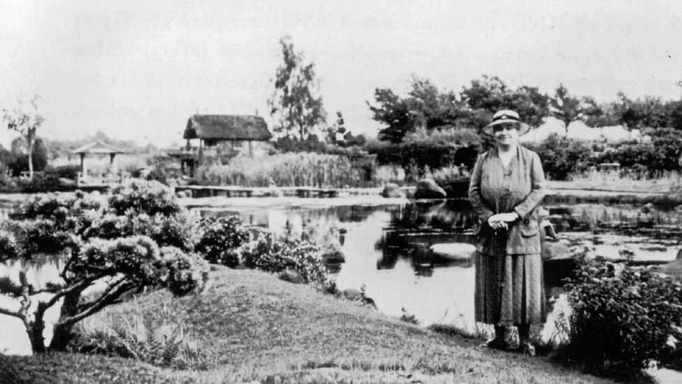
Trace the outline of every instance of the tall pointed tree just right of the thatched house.
[[319, 80], [314, 64], [304, 63], [303, 52], [293, 50], [289, 36], [281, 38], [280, 45], [283, 62], [273, 80], [275, 92], [268, 99], [270, 115], [275, 119], [275, 132], [305, 140], [326, 125]]

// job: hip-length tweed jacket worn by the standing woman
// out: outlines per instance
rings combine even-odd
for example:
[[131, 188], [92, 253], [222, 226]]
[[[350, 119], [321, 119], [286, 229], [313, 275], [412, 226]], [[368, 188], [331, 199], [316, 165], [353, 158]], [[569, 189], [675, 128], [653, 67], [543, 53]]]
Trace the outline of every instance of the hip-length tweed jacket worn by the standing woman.
[[[478, 216], [480, 253], [507, 255], [540, 253], [537, 206], [545, 195], [544, 172], [537, 153], [517, 146], [509, 166], [505, 168], [493, 148], [479, 155], [471, 174], [469, 199]], [[488, 218], [495, 213], [518, 213], [508, 230], [494, 231]]]

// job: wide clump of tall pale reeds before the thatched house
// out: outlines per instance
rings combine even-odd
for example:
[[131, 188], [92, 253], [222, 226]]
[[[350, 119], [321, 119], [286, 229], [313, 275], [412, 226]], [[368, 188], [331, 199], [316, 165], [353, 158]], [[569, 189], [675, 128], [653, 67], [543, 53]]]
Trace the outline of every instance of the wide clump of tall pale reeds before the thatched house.
[[213, 185], [343, 187], [355, 186], [362, 175], [345, 156], [288, 152], [260, 158], [234, 157], [226, 165], [203, 167], [199, 178]]

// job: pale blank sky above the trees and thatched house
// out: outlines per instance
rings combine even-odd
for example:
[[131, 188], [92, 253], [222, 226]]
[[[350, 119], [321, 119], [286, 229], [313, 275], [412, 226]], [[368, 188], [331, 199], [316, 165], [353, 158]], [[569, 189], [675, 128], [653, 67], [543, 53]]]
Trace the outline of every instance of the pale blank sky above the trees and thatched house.
[[[47, 138], [182, 144], [194, 113], [266, 120], [282, 36], [315, 64], [333, 122], [374, 136], [375, 88], [482, 75], [613, 101], [680, 99], [680, 1], [0, 0], [0, 106], [39, 94]], [[14, 135], [0, 129], [0, 144]]]

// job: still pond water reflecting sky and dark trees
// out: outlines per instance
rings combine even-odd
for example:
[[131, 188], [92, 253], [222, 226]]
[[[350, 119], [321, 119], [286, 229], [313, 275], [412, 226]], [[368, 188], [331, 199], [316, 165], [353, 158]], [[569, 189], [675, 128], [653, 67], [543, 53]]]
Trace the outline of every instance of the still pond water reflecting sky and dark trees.
[[[546, 208], [559, 242], [567, 249], [587, 246], [606, 257], [633, 255], [646, 263], [670, 261], [682, 248], [682, 213], [678, 211], [643, 213], [640, 207], [598, 204]], [[338, 243], [345, 256], [336, 276], [340, 290], [364, 290], [378, 311], [397, 317], [412, 315], [423, 326], [444, 323], [469, 332], [476, 329], [472, 262], [449, 262], [423, 252], [437, 243], [474, 244], [474, 220], [465, 200], [324, 208], [233, 206], [193, 211], [198, 215], [240, 215], [249, 226], [280, 233], [287, 228], [305, 231], [314, 241]], [[38, 285], [56, 279], [55, 263], [46, 260], [31, 269], [29, 278]], [[16, 263], [0, 265], [0, 276], [16, 279], [18, 268]], [[554, 266], [546, 264], [545, 269], [551, 272]], [[555, 296], [560, 292], [557, 281], [553, 279], [547, 286]], [[7, 300], [0, 297], [0, 304]], [[56, 315], [55, 311], [53, 320]], [[2, 351], [30, 353], [21, 322], [0, 315]]]

